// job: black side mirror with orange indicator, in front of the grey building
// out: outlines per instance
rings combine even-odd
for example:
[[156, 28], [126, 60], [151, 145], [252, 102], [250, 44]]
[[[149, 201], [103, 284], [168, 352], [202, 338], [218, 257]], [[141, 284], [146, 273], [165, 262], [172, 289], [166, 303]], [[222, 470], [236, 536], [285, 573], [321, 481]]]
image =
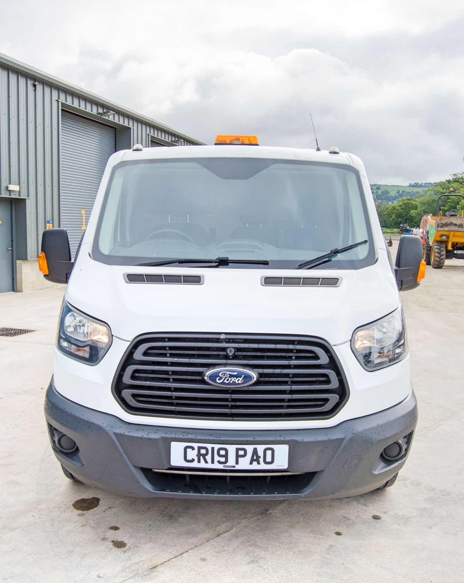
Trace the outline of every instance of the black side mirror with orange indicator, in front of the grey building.
[[47, 229], [43, 232], [38, 268], [49, 282], [68, 283], [72, 261], [66, 229]]

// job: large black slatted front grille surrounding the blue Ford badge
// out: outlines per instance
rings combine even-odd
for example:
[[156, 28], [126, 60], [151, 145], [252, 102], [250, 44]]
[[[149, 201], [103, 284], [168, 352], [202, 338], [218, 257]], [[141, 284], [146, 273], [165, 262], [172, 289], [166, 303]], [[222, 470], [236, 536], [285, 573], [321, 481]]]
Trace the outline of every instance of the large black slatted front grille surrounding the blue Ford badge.
[[[229, 353], [228, 353], [229, 352]], [[208, 384], [216, 367], [252, 368], [247, 387]], [[136, 415], [215, 420], [328, 419], [347, 398], [329, 345], [308, 336], [159, 333], [132, 343], [113, 382]]]

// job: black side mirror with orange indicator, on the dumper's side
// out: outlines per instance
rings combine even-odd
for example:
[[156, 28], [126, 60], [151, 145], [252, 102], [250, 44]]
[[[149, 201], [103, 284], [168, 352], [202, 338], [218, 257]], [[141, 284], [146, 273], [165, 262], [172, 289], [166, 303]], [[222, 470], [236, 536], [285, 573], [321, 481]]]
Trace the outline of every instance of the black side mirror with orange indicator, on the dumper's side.
[[426, 275], [424, 251], [420, 237], [401, 237], [396, 253], [395, 277], [400, 291], [417, 287]]

